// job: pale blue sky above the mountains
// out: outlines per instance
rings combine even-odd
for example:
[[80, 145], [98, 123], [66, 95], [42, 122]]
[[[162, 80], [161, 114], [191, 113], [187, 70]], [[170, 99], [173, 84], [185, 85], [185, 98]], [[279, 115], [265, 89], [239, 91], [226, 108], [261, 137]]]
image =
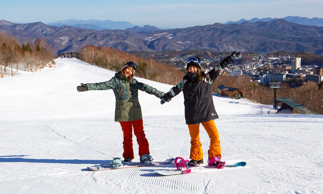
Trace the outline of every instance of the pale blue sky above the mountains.
[[0, 20], [43, 22], [97, 19], [127, 21], [160, 28], [185, 28], [226, 23], [242, 18], [301, 16], [323, 18], [322, 0], [246, 0], [246, 1], [141, 1], [141, 0], [2, 0]]

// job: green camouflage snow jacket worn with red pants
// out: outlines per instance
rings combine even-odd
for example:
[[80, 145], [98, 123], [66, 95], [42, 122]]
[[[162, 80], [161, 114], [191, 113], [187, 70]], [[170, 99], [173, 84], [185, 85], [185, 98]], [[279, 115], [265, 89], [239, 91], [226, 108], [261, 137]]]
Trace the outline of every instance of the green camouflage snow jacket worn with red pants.
[[112, 89], [116, 98], [114, 114], [115, 121], [135, 121], [142, 119], [141, 106], [138, 101], [138, 89], [160, 98], [165, 93], [136, 79], [130, 83], [128, 78], [116, 73], [109, 81], [100, 83], [87, 83], [88, 90], [109, 90]]

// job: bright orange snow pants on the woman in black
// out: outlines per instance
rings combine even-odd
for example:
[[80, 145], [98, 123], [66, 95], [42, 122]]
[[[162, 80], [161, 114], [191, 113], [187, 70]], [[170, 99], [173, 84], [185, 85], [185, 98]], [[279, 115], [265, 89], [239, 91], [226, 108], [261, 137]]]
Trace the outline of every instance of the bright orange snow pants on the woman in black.
[[[203, 122], [202, 125], [210, 137], [209, 158], [215, 156], [221, 157], [219, 133], [214, 124], [214, 120]], [[203, 158], [203, 150], [202, 143], [200, 142], [200, 124], [188, 124], [188, 129], [191, 135], [190, 158], [193, 160], [201, 160]]]

